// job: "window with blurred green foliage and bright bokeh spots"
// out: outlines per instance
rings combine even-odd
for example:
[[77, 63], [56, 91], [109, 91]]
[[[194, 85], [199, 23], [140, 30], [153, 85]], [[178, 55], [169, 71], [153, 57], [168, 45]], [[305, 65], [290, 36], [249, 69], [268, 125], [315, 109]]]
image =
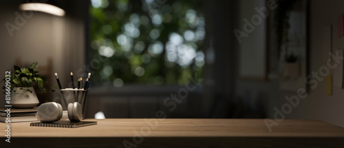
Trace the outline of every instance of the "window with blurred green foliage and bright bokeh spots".
[[96, 85], [202, 81], [200, 1], [92, 0], [90, 65]]

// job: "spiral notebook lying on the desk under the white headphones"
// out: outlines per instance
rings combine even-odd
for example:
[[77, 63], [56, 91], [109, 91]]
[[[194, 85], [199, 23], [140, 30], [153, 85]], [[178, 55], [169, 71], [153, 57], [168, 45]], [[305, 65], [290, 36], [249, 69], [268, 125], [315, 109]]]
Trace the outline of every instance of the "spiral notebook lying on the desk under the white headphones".
[[80, 121], [77, 123], [72, 123], [69, 120], [59, 120], [53, 123], [30, 123], [32, 127], [65, 127], [65, 128], [76, 128], [85, 127], [89, 125], [96, 125], [97, 121]]

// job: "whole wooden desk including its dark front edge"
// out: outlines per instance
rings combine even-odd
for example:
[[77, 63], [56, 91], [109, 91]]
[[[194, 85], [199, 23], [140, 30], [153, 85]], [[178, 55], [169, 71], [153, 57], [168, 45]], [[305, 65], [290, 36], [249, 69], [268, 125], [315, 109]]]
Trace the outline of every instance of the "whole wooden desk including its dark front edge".
[[[30, 122], [12, 123], [10, 145], [21, 147], [24, 143], [39, 141], [56, 142], [47, 144], [48, 147], [124, 147], [123, 142], [127, 140], [136, 147], [344, 147], [344, 128], [319, 120], [286, 119], [272, 127], [271, 132], [264, 119], [96, 121], [98, 125], [74, 129], [30, 127]], [[0, 135], [5, 135], [6, 124], [0, 123], [0, 129]], [[1, 140], [4, 142], [5, 137]]]

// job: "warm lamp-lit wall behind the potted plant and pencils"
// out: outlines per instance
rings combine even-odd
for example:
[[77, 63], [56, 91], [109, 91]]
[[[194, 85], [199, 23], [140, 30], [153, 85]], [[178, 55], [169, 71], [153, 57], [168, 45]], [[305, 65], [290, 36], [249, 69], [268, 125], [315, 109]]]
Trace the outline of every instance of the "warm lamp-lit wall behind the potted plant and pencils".
[[[80, 56], [85, 53], [83, 17], [72, 15], [76, 12], [75, 8], [63, 8], [66, 12], [64, 17], [43, 12], [32, 12], [32, 17], [25, 17], [23, 11], [19, 10], [21, 2], [3, 1], [0, 6], [0, 78], [4, 78], [6, 71], [13, 70], [18, 59], [24, 65], [35, 61], [38, 61], [39, 65], [47, 65], [48, 59], [51, 58], [52, 81], [48, 83], [54, 87], [58, 86], [54, 78], [54, 72], [57, 72], [61, 84], [67, 87], [70, 82], [69, 72], [77, 70], [76, 67], [82, 67], [85, 63], [85, 56]], [[60, 5], [63, 7], [63, 1], [58, 2], [62, 3]], [[80, 1], [74, 1], [78, 2]], [[67, 4], [70, 3], [65, 2], [65, 5]], [[72, 19], [73, 17], [77, 19]], [[6, 23], [16, 25], [19, 30], [12, 31], [11, 36]], [[70, 60], [72, 58], [75, 61]], [[54, 93], [51, 98], [43, 100], [54, 101], [59, 98], [59, 94]], [[1, 101], [0, 106], [3, 105], [5, 103]]]

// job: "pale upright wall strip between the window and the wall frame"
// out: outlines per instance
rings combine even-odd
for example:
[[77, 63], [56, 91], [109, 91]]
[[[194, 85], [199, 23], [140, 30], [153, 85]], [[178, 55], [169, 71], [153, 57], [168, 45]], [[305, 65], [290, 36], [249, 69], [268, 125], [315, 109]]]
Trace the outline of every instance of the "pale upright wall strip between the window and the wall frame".
[[[239, 28], [237, 29], [248, 35], [240, 39], [239, 55], [241, 56], [239, 56], [239, 76], [246, 78], [264, 78], [266, 74], [266, 54], [264, 52], [266, 51], [266, 20], [260, 17], [255, 8], [265, 7], [265, 1], [241, 0], [239, 1], [239, 5]], [[261, 19], [257, 19], [256, 16]], [[252, 21], [260, 21], [260, 23], [256, 25]]]

